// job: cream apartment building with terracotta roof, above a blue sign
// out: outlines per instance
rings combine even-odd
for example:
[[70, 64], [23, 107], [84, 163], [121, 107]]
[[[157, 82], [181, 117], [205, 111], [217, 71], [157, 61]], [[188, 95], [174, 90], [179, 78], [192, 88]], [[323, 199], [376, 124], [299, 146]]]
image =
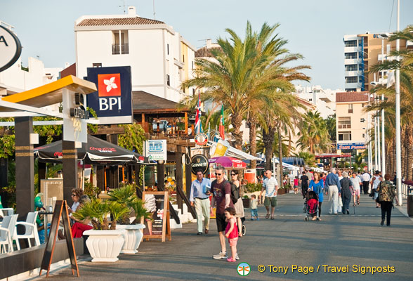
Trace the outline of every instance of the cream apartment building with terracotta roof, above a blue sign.
[[372, 112], [364, 112], [371, 102], [369, 92], [336, 93], [337, 152], [357, 154], [367, 147], [367, 131], [374, 128]]

